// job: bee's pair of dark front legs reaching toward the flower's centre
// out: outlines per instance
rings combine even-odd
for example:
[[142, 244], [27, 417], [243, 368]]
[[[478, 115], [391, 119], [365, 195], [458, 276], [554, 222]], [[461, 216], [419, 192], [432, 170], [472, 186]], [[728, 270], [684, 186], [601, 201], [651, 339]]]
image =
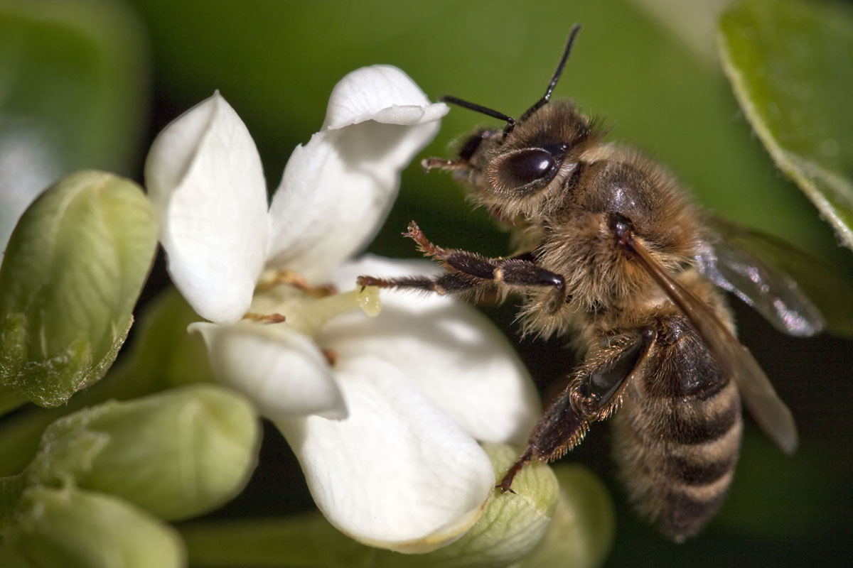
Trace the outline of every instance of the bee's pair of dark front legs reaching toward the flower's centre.
[[455, 294], [474, 290], [484, 284], [502, 284], [510, 289], [550, 288], [548, 307], [555, 312], [566, 302], [566, 281], [558, 273], [537, 266], [526, 258], [487, 258], [466, 250], [443, 249], [432, 244], [413, 221], [404, 233], [418, 244], [425, 255], [437, 260], [448, 273], [435, 278], [374, 278], [361, 276], [358, 284], [382, 288], [427, 290]]

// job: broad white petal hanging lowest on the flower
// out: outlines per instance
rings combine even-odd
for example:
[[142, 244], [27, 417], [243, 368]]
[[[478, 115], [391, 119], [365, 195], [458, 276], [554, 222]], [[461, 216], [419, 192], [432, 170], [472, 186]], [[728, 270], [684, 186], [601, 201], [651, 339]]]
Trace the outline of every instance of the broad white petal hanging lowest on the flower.
[[495, 484], [489, 458], [397, 369], [380, 359], [336, 369], [350, 416], [276, 421], [317, 507], [360, 542], [427, 552], [456, 540]]

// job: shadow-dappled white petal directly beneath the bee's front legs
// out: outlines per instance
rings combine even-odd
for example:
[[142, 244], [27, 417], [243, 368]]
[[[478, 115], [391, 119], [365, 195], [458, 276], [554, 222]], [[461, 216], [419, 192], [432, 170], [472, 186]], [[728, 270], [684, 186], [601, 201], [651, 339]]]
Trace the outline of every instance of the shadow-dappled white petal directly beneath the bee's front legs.
[[[427, 261], [365, 255], [334, 274], [339, 290], [361, 274], [435, 274]], [[346, 313], [316, 341], [339, 359], [370, 353], [406, 370], [415, 384], [475, 439], [522, 444], [540, 413], [533, 382], [514, 348], [473, 307], [446, 296], [384, 290], [375, 318]]]

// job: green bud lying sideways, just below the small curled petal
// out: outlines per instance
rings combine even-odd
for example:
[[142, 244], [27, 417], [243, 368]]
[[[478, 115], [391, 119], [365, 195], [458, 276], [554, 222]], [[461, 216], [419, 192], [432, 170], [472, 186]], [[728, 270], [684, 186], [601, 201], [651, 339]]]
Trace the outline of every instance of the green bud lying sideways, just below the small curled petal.
[[251, 404], [212, 385], [100, 404], [45, 430], [28, 485], [78, 485], [184, 519], [241, 491], [259, 426]]

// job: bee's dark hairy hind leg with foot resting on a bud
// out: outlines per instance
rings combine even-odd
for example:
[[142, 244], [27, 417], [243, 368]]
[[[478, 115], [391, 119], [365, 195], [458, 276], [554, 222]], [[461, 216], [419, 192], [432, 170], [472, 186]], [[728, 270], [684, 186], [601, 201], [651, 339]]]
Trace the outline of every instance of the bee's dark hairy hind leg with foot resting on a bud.
[[497, 486], [512, 491], [513, 479], [525, 464], [537, 459], [553, 462], [580, 444], [589, 424], [604, 420], [618, 408], [624, 387], [646, 359], [657, 333], [652, 328], [630, 330], [615, 337], [612, 347], [581, 365], [574, 378], [533, 428], [527, 448]]

